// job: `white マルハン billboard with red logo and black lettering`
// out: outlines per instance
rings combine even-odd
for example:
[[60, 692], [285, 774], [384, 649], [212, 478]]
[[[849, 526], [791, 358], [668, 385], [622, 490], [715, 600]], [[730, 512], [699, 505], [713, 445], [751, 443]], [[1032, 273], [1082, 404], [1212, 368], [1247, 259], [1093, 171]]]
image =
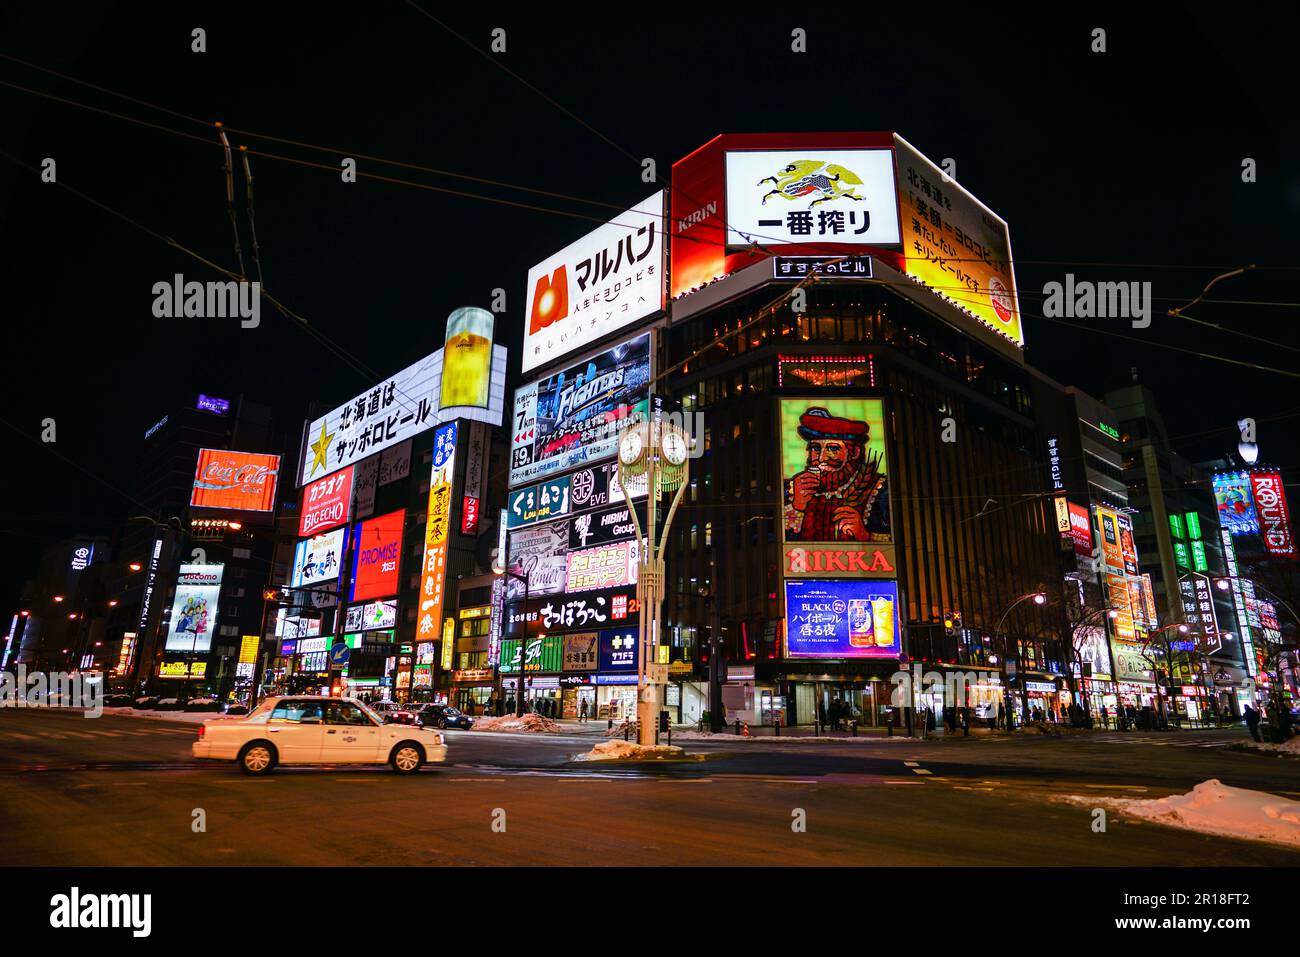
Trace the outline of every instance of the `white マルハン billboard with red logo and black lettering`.
[[528, 270], [523, 372], [663, 308], [659, 191]]

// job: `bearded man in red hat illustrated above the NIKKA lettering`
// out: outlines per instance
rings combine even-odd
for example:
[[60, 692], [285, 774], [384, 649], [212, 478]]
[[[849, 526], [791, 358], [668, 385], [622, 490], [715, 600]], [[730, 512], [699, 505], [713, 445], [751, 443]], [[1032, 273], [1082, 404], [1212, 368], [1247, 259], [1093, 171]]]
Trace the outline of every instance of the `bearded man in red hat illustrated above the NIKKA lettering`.
[[867, 452], [871, 429], [824, 408], [800, 416], [807, 468], [785, 484], [785, 540], [889, 541], [881, 456]]

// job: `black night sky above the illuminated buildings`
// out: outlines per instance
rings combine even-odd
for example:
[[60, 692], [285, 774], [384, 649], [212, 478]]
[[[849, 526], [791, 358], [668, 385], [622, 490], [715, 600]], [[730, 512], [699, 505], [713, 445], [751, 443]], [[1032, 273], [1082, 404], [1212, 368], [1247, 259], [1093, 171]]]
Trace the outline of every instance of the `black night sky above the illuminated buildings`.
[[[498, 342], [517, 356], [529, 265], [658, 189], [641, 181], [641, 157], [667, 179], [725, 131], [897, 130], [936, 161], [954, 157], [957, 179], [1010, 224], [1034, 365], [1093, 394], [1136, 367], [1183, 454], [1225, 454], [1235, 419], [1253, 415], [1261, 462], [1292, 480], [1300, 465], [1300, 380], [1161, 346], [1300, 371], [1294, 31], [1273, 8], [768, 16], [694, 4], [685, 9], [706, 16], [688, 17], [645, 4], [525, 14], [424, 3], [439, 25], [387, 0], [25, 7], [0, 13], [0, 53], [202, 122], [0, 59], [3, 83], [166, 127], [0, 85], [0, 611], [43, 544], [109, 532], [131, 514], [144, 429], [176, 403], [242, 391], [302, 419], [309, 399], [341, 402], [433, 351], [446, 315], [488, 306], [498, 286], [510, 296]], [[190, 51], [196, 26], [202, 55]], [[507, 52], [486, 53], [498, 26]], [[1100, 55], [1089, 51], [1098, 26]], [[809, 31], [807, 53], [790, 52], [794, 27]], [[257, 237], [266, 289], [351, 363], [269, 309], [256, 330], [155, 319], [155, 282], [218, 277], [39, 181], [55, 157], [60, 183], [234, 268], [213, 120], [247, 131], [231, 133], [235, 144], [328, 168], [254, 156]], [[364, 177], [343, 185], [339, 159], [359, 153], [569, 199], [368, 160], [363, 173], [543, 209]], [[1242, 182], [1247, 156], [1256, 183]], [[242, 205], [238, 172], [235, 183]], [[1245, 264], [1274, 268], [1219, 283], [1210, 298], [1234, 302], [1190, 313], [1268, 343], [1162, 316]], [[1039, 319], [1044, 283], [1067, 272], [1152, 282], [1154, 324]], [[53, 446], [38, 438], [46, 417], [57, 421]]]

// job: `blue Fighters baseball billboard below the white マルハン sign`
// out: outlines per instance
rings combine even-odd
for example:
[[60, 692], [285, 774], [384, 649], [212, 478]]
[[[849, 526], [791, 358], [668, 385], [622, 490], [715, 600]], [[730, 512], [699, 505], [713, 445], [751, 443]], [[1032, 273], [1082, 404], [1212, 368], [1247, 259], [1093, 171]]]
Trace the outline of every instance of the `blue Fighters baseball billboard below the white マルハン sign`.
[[649, 416], [649, 334], [520, 386], [511, 423], [511, 486], [614, 458], [627, 420]]

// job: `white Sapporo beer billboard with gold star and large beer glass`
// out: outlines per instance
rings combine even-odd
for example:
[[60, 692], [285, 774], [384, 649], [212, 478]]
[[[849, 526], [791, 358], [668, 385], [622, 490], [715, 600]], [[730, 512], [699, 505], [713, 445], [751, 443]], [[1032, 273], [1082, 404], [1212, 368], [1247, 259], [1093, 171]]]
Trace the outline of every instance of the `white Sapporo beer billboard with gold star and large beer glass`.
[[[298, 484], [337, 472], [455, 419], [500, 425], [506, 347], [493, 345], [490, 320], [491, 313], [482, 309], [456, 309], [447, 320], [443, 348], [308, 423]], [[486, 406], [481, 406], [486, 354], [491, 355], [491, 368]]]

